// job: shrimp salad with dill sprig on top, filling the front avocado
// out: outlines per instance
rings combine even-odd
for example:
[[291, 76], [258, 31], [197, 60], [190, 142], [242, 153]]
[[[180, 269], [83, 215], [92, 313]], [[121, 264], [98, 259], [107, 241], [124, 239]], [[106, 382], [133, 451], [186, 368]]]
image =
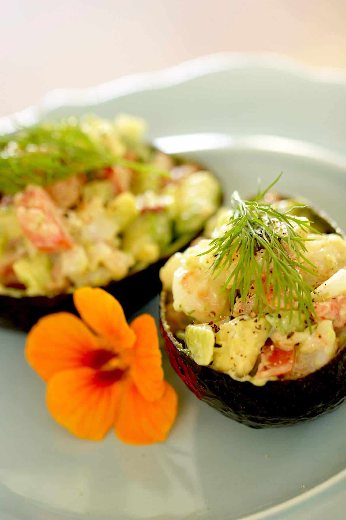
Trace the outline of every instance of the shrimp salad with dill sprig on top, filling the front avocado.
[[[326, 365], [346, 340], [346, 241], [304, 202], [233, 193], [160, 277], [198, 365], [262, 386]], [[314, 224], [315, 221], [315, 224]]]

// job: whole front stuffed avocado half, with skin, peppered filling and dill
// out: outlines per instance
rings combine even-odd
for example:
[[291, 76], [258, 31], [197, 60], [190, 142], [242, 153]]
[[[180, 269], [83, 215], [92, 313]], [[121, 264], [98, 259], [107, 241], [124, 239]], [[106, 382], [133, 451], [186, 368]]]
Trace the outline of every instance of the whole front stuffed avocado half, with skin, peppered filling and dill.
[[234, 193], [204, 237], [160, 272], [162, 333], [177, 373], [252, 427], [333, 410], [346, 396], [342, 232], [301, 199]]

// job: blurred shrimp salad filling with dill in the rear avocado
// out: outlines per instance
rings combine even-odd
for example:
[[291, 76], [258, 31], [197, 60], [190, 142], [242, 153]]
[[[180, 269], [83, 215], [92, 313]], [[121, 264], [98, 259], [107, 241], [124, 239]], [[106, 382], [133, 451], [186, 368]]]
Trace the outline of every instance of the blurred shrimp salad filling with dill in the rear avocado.
[[217, 180], [144, 132], [130, 116], [70, 118], [0, 141], [0, 294], [105, 286], [196, 235], [219, 206]]

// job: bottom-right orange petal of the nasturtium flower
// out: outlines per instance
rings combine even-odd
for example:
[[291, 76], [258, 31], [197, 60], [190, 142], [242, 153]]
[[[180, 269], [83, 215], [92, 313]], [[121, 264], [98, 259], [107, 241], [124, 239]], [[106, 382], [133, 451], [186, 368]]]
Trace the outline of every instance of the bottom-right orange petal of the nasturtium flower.
[[130, 379], [120, 402], [115, 432], [123, 443], [158, 443], [167, 437], [176, 412], [177, 395], [169, 383], [164, 382], [160, 399], [147, 401]]

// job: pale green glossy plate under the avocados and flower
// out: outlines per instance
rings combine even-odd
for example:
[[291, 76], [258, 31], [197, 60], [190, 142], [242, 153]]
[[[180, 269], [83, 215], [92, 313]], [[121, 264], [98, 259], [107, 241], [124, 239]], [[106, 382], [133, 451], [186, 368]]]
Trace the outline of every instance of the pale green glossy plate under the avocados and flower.
[[[282, 191], [307, 196], [346, 228], [345, 111], [341, 73], [215, 55], [59, 90], [0, 120], [0, 132], [47, 115], [140, 115], [157, 146], [217, 172], [226, 200], [233, 189], [252, 193], [258, 177], [266, 185], [284, 171]], [[157, 317], [157, 298], [145, 310]], [[199, 402], [164, 356], [179, 394], [168, 440], [129, 447], [111, 432], [91, 443], [51, 419], [24, 342], [24, 334], [0, 330], [0, 520], [344, 517], [345, 405], [312, 423], [251, 430]]]

